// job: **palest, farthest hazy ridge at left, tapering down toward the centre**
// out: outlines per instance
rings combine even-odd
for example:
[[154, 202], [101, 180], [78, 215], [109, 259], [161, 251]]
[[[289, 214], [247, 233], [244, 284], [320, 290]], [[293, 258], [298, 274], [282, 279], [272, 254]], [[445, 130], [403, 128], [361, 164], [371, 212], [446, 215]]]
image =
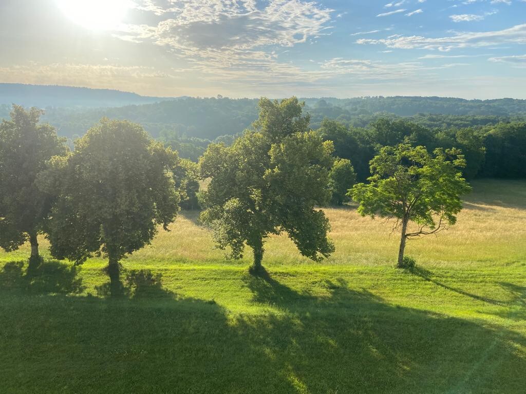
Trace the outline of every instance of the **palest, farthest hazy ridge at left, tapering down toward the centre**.
[[73, 86], [0, 84], [0, 105], [16, 103], [25, 107], [122, 107], [164, 100], [166, 97], [140, 96], [111, 89], [77, 88]]

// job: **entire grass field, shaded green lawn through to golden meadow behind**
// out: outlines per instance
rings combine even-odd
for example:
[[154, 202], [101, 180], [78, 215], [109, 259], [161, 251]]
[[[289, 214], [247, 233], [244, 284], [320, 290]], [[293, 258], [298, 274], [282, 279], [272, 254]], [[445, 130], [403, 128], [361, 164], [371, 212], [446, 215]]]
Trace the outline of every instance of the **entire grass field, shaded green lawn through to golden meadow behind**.
[[[478, 181], [458, 224], [410, 241], [328, 209], [337, 251], [316, 264], [285, 237], [225, 260], [195, 213], [124, 262], [0, 254], [0, 393], [526, 392], [526, 182]], [[44, 254], [46, 243], [42, 240]]]

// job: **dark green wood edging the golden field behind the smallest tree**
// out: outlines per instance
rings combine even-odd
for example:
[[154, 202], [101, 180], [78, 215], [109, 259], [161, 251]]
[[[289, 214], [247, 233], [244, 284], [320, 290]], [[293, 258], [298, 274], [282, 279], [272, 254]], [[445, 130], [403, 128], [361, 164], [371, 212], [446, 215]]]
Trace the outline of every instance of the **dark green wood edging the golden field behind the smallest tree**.
[[336, 155], [353, 163], [360, 181], [370, 175], [369, 162], [381, 147], [408, 143], [463, 152], [463, 174], [473, 178], [526, 178], [526, 122], [499, 123], [483, 128], [430, 129], [409, 119], [380, 118], [367, 128], [347, 127], [325, 119], [318, 132], [335, 144]]

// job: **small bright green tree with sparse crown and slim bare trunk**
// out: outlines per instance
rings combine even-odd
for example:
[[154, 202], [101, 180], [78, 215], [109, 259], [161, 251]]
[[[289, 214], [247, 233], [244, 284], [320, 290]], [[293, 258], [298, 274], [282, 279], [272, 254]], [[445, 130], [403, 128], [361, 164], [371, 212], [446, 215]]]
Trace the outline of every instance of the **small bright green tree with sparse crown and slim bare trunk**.
[[[457, 149], [436, 149], [407, 144], [385, 147], [371, 160], [369, 184], [359, 183], [349, 192], [362, 216], [395, 219], [401, 229], [398, 267], [403, 265], [406, 240], [436, 234], [456, 222], [462, 209], [460, 196], [471, 190], [459, 168], [466, 165]], [[418, 228], [408, 232], [408, 223]]]

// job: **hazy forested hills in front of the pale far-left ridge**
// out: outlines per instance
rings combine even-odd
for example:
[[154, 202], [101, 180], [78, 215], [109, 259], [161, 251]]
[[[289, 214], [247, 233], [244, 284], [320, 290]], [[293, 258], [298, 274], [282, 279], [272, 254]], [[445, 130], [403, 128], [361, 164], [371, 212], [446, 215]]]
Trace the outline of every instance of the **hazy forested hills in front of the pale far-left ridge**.
[[[10, 106], [0, 105], [0, 118], [8, 117], [9, 110]], [[526, 100], [513, 99], [324, 98], [306, 99], [305, 110], [310, 113], [310, 128], [313, 130], [320, 128], [325, 118], [337, 120], [348, 128], [365, 129], [385, 118], [406, 119], [435, 133], [473, 128], [484, 135], [499, 123], [526, 121]], [[102, 117], [140, 123], [154, 138], [196, 138], [214, 142], [221, 136], [238, 136], [249, 127], [258, 118], [258, 101], [219, 96], [187, 97], [113, 108], [48, 107], [43, 120], [55, 126], [61, 136], [69, 138], [72, 145], [75, 138], [82, 136]]]

